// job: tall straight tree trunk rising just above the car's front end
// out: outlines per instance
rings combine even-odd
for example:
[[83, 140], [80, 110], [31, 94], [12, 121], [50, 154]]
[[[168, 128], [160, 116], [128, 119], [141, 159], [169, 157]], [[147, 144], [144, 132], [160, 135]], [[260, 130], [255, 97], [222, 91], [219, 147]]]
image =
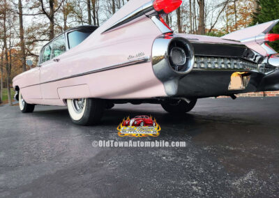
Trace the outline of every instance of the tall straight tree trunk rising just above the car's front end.
[[20, 18], [20, 50], [22, 51], [22, 71], [27, 70], [26, 65], [26, 53], [25, 53], [25, 43], [24, 43], [24, 29], [23, 29], [23, 20], [22, 20], [22, 0], [18, 0], [18, 10]]

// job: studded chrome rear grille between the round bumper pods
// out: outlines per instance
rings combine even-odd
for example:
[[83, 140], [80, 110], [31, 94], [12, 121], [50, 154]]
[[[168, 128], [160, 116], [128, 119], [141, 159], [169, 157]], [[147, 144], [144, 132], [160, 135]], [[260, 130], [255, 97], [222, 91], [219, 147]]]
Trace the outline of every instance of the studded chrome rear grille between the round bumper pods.
[[259, 65], [243, 59], [195, 56], [194, 69], [207, 70], [259, 70]]

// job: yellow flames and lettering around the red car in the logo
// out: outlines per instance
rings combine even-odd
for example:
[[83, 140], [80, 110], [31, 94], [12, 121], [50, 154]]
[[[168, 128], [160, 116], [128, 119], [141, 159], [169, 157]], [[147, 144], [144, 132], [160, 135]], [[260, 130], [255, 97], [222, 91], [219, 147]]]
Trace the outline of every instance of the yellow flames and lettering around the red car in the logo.
[[130, 116], [124, 118], [123, 121], [117, 127], [119, 137], [158, 137], [160, 135], [160, 125], [157, 123], [156, 119], [152, 116], [149, 118], [155, 123], [153, 126], [127, 126], [124, 125], [126, 121], [130, 123]]

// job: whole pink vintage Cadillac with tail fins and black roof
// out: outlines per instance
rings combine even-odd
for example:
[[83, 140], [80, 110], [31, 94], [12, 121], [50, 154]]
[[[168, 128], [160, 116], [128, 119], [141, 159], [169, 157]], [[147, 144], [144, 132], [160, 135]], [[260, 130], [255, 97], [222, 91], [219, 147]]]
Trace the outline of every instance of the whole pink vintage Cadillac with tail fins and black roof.
[[279, 20], [223, 38], [174, 34], [164, 22], [182, 0], [131, 0], [103, 26], [78, 26], [43, 47], [36, 68], [13, 79], [23, 113], [68, 105], [80, 125], [114, 104], [161, 104], [186, 113], [198, 98], [279, 90], [279, 56], [267, 43]]

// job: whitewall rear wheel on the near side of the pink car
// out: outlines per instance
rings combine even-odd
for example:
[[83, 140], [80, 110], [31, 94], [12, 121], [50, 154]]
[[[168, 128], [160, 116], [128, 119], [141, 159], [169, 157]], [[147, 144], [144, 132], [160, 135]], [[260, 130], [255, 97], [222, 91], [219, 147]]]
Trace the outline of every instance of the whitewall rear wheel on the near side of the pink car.
[[78, 125], [95, 125], [105, 109], [103, 100], [92, 98], [70, 99], [67, 105], [70, 118]]

